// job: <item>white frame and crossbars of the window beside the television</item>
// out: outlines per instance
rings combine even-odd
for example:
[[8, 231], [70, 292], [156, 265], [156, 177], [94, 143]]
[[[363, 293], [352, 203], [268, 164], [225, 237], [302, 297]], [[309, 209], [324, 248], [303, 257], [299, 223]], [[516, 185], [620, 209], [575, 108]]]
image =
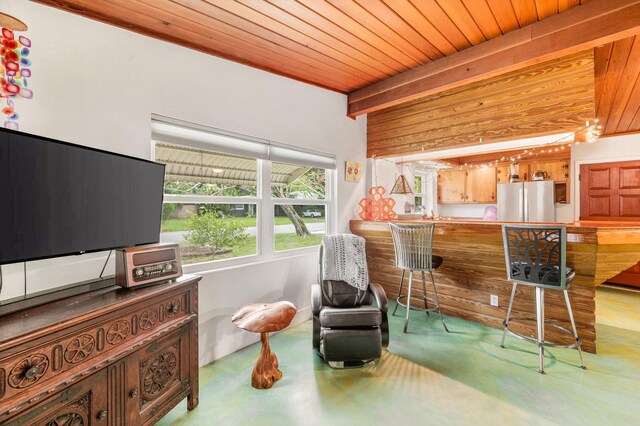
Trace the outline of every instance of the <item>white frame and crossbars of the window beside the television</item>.
[[[217, 132], [218, 129], [208, 129], [213, 134], [221, 134], [225, 136], [235, 135], [241, 138], [257, 140], [257, 138], [233, 134], [226, 131]], [[164, 143], [151, 138], [151, 158], [156, 161], [156, 144]], [[180, 145], [179, 143], [174, 143]], [[187, 145], [185, 145], [187, 146]], [[305, 148], [277, 144], [279, 147], [288, 147], [298, 152], [315, 152]], [[215, 148], [211, 149], [216, 151]], [[317, 152], [316, 152], [317, 153]], [[319, 154], [319, 153], [317, 153]], [[326, 157], [330, 157], [327, 154]], [[191, 195], [191, 194], [163, 194], [163, 204], [169, 203], [197, 203], [197, 204], [255, 204], [256, 206], [256, 253], [233, 257], [221, 260], [209, 260], [200, 263], [183, 265], [185, 273], [200, 273], [209, 270], [220, 270], [225, 268], [238, 267], [243, 265], [256, 264], [272, 259], [281, 259], [294, 256], [300, 256], [310, 253], [316, 253], [318, 246], [308, 246], [300, 248], [291, 248], [286, 250], [275, 250], [275, 215], [274, 209], [278, 204], [294, 204], [294, 205], [324, 205], [325, 206], [325, 235], [335, 233], [337, 227], [337, 210], [335, 205], [337, 191], [337, 169], [324, 168], [325, 170], [325, 199], [308, 199], [308, 198], [275, 198], [271, 194], [271, 164], [269, 159], [254, 158], [257, 162], [256, 173], [256, 196], [216, 196], [216, 195]], [[274, 161], [284, 163], [283, 161]], [[295, 164], [295, 163], [291, 163]], [[317, 167], [317, 166], [316, 166]], [[321, 167], [320, 167], [321, 168]]]

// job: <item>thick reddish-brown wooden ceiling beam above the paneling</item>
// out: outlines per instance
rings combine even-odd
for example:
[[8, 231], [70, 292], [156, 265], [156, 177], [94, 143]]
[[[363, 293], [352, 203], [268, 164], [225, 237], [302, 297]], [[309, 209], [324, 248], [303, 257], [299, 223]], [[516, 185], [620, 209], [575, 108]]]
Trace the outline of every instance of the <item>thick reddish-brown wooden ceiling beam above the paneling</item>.
[[640, 33], [640, 0], [593, 0], [349, 94], [349, 117]]

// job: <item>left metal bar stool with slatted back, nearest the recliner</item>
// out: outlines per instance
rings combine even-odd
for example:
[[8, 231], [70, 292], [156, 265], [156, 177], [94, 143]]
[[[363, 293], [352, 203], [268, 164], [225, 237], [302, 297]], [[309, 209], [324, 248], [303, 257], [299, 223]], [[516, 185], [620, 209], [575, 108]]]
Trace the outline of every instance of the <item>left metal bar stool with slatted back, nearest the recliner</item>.
[[[393, 237], [393, 247], [396, 254], [396, 266], [402, 269], [402, 278], [400, 278], [400, 289], [398, 290], [398, 296], [396, 297], [396, 307], [393, 310], [393, 315], [396, 314], [398, 305], [407, 308], [406, 317], [404, 320], [404, 332], [407, 332], [409, 326], [409, 311], [411, 309], [424, 311], [429, 315], [429, 312], [438, 311], [440, 314], [440, 321], [442, 326], [448, 333], [449, 329], [444, 322], [442, 311], [440, 310], [440, 302], [438, 301], [438, 291], [436, 290], [436, 283], [433, 279], [433, 270], [442, 265], [443, 259], [440, 256], [434, 256], [431, 253], [431, 244], [433, 241], [433, 230], [435, 228], [434, 223], [425, 223], [420, 225], [398, 225], [396, 223], [389, 223], [391, 229], [391, 235]], [[409, 271], [409, 286], [407, 288], [407, 294], [402, 295], [402, 287], [404, 286], [404, 274], [405, 271]], [[422, 273], [422, 296], [411, 295], [411, 285], [413, 283], [413, 272]], [[429, 272], [431, 275], [431, 284], [433, 285], [433, 298], [427, 296], [427, 285], [425, 280], [425, 272]], [[424, 301], [424, 309], [411, 306], [411, 299], [418, 298]], [[401, 300], [405, 300], [402, 303]], [[429, 308], [427, 301], [434, 304], [434, 308]]]

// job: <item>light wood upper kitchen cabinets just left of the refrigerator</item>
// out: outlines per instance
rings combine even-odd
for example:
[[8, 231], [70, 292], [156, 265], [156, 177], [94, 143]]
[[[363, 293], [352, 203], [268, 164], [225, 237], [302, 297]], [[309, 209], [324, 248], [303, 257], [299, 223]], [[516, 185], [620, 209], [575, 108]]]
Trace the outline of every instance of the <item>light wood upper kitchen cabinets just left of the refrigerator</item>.
[[438, 173], [438, 203], [484, 204], [496, 202], [496, 169], [446, 170]]

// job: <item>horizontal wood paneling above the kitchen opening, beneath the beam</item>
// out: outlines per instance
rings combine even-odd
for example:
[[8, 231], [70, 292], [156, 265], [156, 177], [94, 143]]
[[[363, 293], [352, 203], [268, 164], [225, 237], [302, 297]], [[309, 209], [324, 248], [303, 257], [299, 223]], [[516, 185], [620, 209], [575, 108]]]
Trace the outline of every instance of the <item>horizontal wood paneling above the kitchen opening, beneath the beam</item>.
[[371, 113], [367, 156], [574, 131], [594, 118], [588, 51]]

